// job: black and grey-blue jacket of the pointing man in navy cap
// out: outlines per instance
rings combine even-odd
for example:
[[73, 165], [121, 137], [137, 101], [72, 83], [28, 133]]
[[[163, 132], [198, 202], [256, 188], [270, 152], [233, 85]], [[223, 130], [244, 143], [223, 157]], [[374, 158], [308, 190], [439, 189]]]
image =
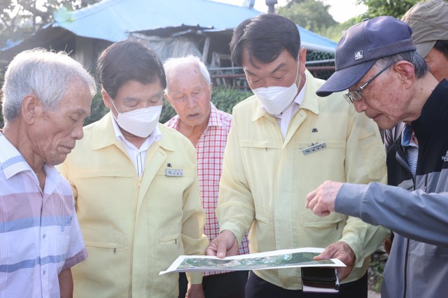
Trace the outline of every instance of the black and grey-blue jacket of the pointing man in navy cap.
[[[382, 298], [448, 295], [447, 80], [437, 85], [412, 129], [419, 140], [414, 192], [379, 183], [344, 185], [335, 202], [337, 212], [395, 232], [384, 269]], [[394, 145], [395, 156], [393, 151], [388, 156], [389, 184], [408, 188], [412, 176], [400, 143]]]

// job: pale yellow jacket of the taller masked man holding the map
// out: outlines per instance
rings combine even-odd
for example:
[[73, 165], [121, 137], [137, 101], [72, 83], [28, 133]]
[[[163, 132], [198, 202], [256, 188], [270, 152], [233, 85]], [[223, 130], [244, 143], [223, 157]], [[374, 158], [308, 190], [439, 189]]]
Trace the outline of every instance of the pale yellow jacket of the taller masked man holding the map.
[[[365, 274], [388, 230], [339, 213], [319, 218], [304, 208], [306, 197], [325, 180], [386, 183], [386, 155], [377, 125], [340, 92], [317, 97], [322, 83], [307, 71], [304, 100], [285, 139], [255, 96], [235, 106], [216, 213], [221, 231], [232, 231], [238, 241], [251, 229], [251, 253], [344, 241], [356, 254], [356, 268], [344, 280], [349, 282]], [[319, 143], [325, 148], [307, 150]], [[282, 288], [302, 289], [300, 269], [255, 274]]]

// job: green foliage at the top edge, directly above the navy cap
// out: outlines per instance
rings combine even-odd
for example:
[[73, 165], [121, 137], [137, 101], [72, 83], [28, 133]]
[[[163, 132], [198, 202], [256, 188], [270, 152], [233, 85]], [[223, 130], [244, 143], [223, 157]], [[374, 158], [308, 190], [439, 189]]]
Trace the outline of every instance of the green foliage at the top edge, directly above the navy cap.
[[372, 18], [380, 15], [401, 18], [409, 8], [414, 6], [419, 0], [358, 0], [357, 3], [363, 3], [367, 6], [367, 12], [364, 17]]

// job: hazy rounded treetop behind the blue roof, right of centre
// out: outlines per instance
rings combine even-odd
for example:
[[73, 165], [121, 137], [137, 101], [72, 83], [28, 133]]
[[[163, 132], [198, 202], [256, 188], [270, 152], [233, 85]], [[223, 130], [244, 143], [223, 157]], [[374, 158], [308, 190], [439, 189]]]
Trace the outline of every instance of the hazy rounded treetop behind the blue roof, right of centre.
[[295, 0], [290, 1], [286, 6], [280, 7], [279, 15], [288, 17], [296, 24], [316, 33], [332, 27], [337, 22], [328, 13], [330, 6], [325, 6], [321, 1], [316, 0]]

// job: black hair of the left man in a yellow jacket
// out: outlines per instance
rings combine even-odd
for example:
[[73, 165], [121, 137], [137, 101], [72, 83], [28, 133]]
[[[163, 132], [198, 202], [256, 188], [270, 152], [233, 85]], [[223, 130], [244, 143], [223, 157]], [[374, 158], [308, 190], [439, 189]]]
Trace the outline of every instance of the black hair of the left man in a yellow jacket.
[[162, 62], [146, 43], [127, 39], [106, 48], [97, 61], [99, 82], [111, 98], [130, 80], [142, 84], [160, 80], [162, 89], [167, 87], [167, 78]]

